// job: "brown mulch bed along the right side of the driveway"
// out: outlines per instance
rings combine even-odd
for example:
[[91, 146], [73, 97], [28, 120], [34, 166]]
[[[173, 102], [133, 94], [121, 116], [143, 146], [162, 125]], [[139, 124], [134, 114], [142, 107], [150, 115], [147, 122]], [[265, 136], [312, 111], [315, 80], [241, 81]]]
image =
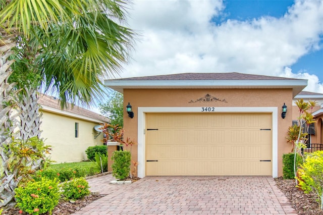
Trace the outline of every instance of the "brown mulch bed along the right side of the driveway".
[[323, 211], [319, 210], [316, 196], [314, 194], [306, 194], [303, 190], [295, 187], [295, 180], [279, 177], [275, 181], [277, 187], [286, 195], [298, 214], [323, 215]]

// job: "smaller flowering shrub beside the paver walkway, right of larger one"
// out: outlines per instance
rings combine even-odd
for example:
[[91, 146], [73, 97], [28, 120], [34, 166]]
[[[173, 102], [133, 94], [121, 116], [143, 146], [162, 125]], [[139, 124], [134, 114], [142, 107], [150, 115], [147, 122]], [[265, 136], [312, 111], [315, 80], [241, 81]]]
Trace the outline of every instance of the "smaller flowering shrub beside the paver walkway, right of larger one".
[[62, 194], [67, 200], [76, 200], [90, 194], [89, 184], [84, 178], [75, 178], [63, 183], [60, 187], [62, 187]]

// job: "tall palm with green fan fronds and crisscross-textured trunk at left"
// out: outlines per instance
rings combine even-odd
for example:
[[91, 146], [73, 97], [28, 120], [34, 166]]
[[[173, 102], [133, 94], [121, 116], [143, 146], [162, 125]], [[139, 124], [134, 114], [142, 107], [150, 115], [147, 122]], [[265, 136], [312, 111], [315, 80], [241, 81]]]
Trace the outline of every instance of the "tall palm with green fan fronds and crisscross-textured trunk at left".
[[[40, 136], [37, 91], [57, 93], [62, 109], [69, 102], [91, 104], [94, 98], [104, 96], [103, 77], [118, 74], [129, 60], [135, 33], [122, 26], [126, 17], [125, 1], [24, 0], [0, 4], [3, 4], [0, 6], [3, 35], [15, 38], [12, 40], [15, 42], [23, 41], [16, 47], [20, 54], [14, 57], [14, 74], [18, 73], [13, 80], [24, 79], [17, 79], [19, 74], [24, 74], [21, 69], [36, 79], [40, 77], [39, 82], [32, 84], [18, 81], [17, 89], [24, 92], [19, 106], [27, 114], [21, 115], [24, 127], [20, 129], [27, 131], [21, 138]], [[25, 61], [26, 57], [31, 61]], [[6, 170], [6, 155], [1, 152]], [[4, 175], [2, 181], [14, 182], [15, 178]], [[11, 192], [1, 192], [1, 198], [6, 199], [3, 205], [13, 198], [13, 188]]]

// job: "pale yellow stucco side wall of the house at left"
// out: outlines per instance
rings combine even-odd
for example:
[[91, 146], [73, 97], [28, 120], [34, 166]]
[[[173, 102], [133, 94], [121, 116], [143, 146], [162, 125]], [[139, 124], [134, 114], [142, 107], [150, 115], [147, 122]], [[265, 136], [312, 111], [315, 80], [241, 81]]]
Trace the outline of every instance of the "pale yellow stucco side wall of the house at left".
[[[102, 145], [103, 135], [98, 137], [93, 127], [98, 123], [89, 122], [51, 112], [42, 112], [41, 138], [46, 145], [51, 145], [49, 155], [57, 163], [80, 162], [86, 160], [85, 150], [89, 146]], [[79, 123], [79, 137], [75, 137], [75, 123]]]

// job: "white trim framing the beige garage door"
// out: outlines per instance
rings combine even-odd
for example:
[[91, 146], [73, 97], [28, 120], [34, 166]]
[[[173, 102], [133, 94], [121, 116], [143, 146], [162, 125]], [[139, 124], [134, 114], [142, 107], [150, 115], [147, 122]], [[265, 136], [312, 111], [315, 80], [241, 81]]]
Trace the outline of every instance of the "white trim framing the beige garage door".
[[[145, 177], [145, 135], [146, 113], [209, 113], [201, 107], [138, 107], [138, 177]], [[278, 108], [277, 107], [228, 107], [216, 108], [216, 113], [272, 113], [273, 178], [278, 177]]]

